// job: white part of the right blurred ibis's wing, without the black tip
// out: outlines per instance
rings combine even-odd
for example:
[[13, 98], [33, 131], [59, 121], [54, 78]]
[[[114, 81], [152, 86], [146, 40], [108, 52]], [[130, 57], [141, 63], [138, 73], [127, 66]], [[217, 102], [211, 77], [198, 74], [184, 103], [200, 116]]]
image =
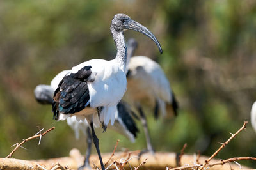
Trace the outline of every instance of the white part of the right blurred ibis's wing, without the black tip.
[[164, 102], [171, 102], [170, 83], [155, 61], [145, 56], [134, 56], [131, 58], [128, 68], [127, 79], [133, 79], [136, 82], [134, 86], [140, 86], [138, 88], [141, 93], [142, 91], [147, 93], [152, 103], [155, 101], [154, 97], [160, 98]]

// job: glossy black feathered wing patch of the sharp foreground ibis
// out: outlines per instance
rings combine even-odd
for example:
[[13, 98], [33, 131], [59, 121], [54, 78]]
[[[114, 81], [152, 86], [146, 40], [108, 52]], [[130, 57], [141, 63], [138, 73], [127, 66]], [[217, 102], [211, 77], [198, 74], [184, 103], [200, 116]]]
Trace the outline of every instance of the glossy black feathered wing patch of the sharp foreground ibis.
[[88, 82], [91, 79], [92, 66], [84, 66], [77, 73], [65, 75], [54, 92], [52, 112], [54, 119], [58, 120], [59, 114], [74, 114], [90, 105]]

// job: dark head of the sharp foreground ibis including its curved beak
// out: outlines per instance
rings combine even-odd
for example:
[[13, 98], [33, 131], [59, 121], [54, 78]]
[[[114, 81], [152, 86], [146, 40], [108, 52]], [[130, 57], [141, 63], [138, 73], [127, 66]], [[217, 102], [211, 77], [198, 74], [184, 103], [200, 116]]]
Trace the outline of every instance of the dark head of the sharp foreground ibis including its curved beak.
[[140, 23], [132, 20], [129, 16], [127, 16], [125, 14], [122, 14], [122, 13], [116, 14], [112, 19], [110, 29], [111, 29], [111, 31], [112, 31], [112, 29], [115, 29], [116, 32], [122, 32], [127, 29], [131, 29], [131, 30], [143, 33], [143, 35], [147, 35], [149, 38], [151, 38], [151, 40], [153, 40], [156, 43], [156, 45], [161, 53], [163, 52], [162, 47], [161, 47], [160, 43], [158, 42], [156, 36], [154, 36], [147, 29], [147, 27], [142, 26]]

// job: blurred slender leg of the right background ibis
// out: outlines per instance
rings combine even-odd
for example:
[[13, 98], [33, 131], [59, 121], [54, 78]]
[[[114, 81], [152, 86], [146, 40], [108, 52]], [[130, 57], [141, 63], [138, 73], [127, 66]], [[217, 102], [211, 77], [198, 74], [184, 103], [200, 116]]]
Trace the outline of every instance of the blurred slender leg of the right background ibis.
[[[151, 144], [151, 140], [150, 140], [150, 135], [149, 135], [149, 131], [148, 131], [148, 123], [147, 123], [147, 118], [141, 108], [141, 106], [138, 106], [138, 111], [140, 113], [140, 120], [141, 120], [141, 123], [143, 125], [143, 130], [144, 130], [144, 133], [145, 133], [145, 137], [146, 137], [146, 142], [147, 142], [147, 150], [152, 154], [154, 155], [154, 149], [153, 149], [153, 146]], [[146, 151], [141, 151], [140, 155], [142, 155], [144, 152]]]

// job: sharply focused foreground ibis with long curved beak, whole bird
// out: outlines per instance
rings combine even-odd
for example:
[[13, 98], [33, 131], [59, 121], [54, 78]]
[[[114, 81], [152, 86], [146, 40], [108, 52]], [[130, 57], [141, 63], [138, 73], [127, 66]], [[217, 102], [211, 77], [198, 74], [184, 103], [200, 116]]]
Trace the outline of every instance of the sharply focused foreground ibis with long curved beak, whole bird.
[[[124, 31], [131, 29], [150, 37], [162, 52], [156, 37], [144, 26], [125, 14], [113, 17], [110, 31], [116, 44], [116, 58], [110, 61], [92, 59], [77, 66], [62, 79], [54, 92], [52, 112], [55, 120], [65, 120], [70, 116], [86, 120], [92, 130], [92, 139], [97, 150], [100, 166], [105, 169], [99, 150], [99, 139], [94, 132], [93, 120], [99, 117], [104, 130], [115, 121], [116, 105], [123, 97], [127, 80], [125, 67], [127, 50]], [[94, 122], [95, 123], [95, 122]]]

